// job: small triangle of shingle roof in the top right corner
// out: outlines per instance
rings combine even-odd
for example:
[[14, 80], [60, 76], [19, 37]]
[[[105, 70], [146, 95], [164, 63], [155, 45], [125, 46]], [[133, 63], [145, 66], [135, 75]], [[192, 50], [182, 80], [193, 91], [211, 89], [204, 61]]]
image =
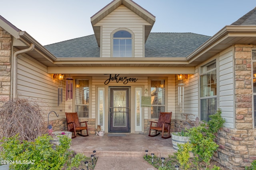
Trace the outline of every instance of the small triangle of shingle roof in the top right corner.
[[231, 25], [256, 25], [256, 7]]

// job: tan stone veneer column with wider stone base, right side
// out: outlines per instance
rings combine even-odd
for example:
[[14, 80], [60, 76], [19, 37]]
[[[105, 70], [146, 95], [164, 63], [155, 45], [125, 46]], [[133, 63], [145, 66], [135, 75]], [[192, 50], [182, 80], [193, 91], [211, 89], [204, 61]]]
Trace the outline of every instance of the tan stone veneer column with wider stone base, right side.
[[[256, 159], [256, 131], [252, 110], [252, 48], [256, 45], [234, 46], [235, 128], [223, 128], [218, 133], [218, 155], [222, 165], [244, 170]], [[218, 158], [217, 158], [218, 157]]]

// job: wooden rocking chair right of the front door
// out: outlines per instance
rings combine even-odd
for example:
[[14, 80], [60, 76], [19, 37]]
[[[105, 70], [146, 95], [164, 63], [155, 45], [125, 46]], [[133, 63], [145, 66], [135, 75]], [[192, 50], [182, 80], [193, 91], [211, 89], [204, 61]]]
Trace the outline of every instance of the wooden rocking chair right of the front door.
[[[172, 137], [170, 135], [170, 126], [171, 126], [171, 119], [172, 119], [172, 112], [160, 112], [158, 121], [150, 121], [150, 127], [149, 127], [149, 134], [150, 137], [155, 137], [159, 135], [160, 133], [157, 133], [157, 131], [162, 131], [162, 138], [168, 139]], [[154, 124], [153, 124], [154, 123]], [[156, 125], [156, 126], [152, 126]], [[151, 135], [151, 129], [156, 131], [156, 135]], [[164, 137], [164, 132], [168, 132], [168, 136]]]

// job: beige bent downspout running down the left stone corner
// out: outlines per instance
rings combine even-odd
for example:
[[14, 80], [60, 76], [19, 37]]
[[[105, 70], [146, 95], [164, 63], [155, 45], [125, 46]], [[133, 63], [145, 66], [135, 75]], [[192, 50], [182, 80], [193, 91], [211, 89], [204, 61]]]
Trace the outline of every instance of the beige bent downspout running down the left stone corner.
[[11, 98], [17, 97], [17, 57], [20, 54], [27, 53], [29, 51], [34, 50], [35, 45], [30, 43], [30, 47], [28, 49], [16, 51], [13, 55], [12, 61], [12, 83], [11, 83]]

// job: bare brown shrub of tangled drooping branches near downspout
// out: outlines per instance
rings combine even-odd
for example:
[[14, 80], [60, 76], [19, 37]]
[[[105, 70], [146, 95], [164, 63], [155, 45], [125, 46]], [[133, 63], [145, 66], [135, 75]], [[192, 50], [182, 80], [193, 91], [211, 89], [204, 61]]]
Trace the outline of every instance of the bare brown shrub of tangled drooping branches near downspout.
[[36, 102], [15, 98], [0, 104], [0, 139], [19, 134], [20, 140], [33, 141], [44, 133], [44, 126]]

